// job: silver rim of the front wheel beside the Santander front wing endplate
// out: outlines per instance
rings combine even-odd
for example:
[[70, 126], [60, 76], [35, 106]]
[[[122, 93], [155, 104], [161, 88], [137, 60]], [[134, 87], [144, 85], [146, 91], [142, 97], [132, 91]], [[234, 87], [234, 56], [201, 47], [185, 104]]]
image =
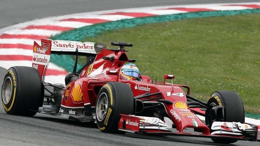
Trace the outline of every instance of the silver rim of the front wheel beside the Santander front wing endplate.
[[103, 121], [108, 111], [108, 96], [105, 92], [101, 93], [96, 106], [96, 116], [99, 122]]

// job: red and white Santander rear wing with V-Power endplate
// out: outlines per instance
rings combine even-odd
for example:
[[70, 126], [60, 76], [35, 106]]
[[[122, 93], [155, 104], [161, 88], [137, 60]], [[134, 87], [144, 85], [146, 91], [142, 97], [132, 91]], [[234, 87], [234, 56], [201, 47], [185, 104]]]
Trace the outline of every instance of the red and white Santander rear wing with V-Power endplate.
[[32, 67], [36, 68], [44, 81], [51, 54], [96, 56], [105, 48], [95, 42], [41, 39], [41, 46], [34, 42]]

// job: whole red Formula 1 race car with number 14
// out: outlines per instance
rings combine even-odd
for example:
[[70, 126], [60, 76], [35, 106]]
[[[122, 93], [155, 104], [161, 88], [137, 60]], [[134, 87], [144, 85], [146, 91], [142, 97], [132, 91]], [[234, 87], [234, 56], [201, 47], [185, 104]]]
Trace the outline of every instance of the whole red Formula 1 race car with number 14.
[[[208, 137], [214, 142], [257, 140], [258, 127], [244, 123], [241, 98], [233, 91], [216, 91], [207, 103], [190, 96], [187, 85], [151, 81], [140, 75], [124, 47], [42, 39], [33, 47], [32, 67], [9, 68], [2, 86], [2, 104], [7, 114], [34, 116], [37, 112], [81, 122], [96, 122], [102, 132]], [[65, 85], [44, 82], [50, 55], [75, 55], [72, 73]], [[87, 63], [78, 71], [78, 56]], [[35, 69], [36, 68], [36, 69]], [[182, 88], [186, 88], [185, 93]], [[205, 123], [199, 116], [205, 117]], [[192, 128], [194, 132], [187, 132]]]

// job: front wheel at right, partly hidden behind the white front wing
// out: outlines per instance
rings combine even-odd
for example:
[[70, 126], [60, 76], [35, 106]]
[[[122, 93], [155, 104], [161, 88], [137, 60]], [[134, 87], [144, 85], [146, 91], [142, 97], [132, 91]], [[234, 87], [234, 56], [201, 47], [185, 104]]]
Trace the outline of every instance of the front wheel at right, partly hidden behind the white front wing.
[[[224, 120], [223, 122], [245, 122], [244, 105], [241, 98], [233, 91], [216, 91], [211, 94], [207, 102], [208, 105], [216, 104], [217, 106], [224, 107]], [[206, 111], [206, 114], [209, 110]], [[215, 120], [206, 118], [206, 124], [212, 125]], [[234, 143], [238, 140], [228, 138], [211, 138], [216, 143]]]

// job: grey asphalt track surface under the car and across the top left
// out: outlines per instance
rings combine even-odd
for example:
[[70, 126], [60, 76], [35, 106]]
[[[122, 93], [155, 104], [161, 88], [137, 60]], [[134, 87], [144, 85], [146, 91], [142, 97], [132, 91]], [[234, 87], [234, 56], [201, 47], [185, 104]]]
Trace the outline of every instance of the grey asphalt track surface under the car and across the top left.
[[[259, 0], [254, 0], [259, 2]], [[0, 0], [0, 28], [19, 22], [57, 15], [110, 9], [207, 4], [225, 2], [254, 2], [251, 0]], [[0, 86], [6, 69], [0, 68]], [[0, 93], [1, 94], [1, 93]], [[1, 102], [1, 101], [0, 101]], [[260, 138], [260, 137], [259, 137]], [[208, 138], [180, 136], [143, 136], [136, 134], [107, 134], [95, 124], [79, 123], [44, 114], [34, 117], [7, 115], [0, 106], [0, 145], [223, 145]], [[258, 145], [259, 142], [239, 141], [234, 145]]]

